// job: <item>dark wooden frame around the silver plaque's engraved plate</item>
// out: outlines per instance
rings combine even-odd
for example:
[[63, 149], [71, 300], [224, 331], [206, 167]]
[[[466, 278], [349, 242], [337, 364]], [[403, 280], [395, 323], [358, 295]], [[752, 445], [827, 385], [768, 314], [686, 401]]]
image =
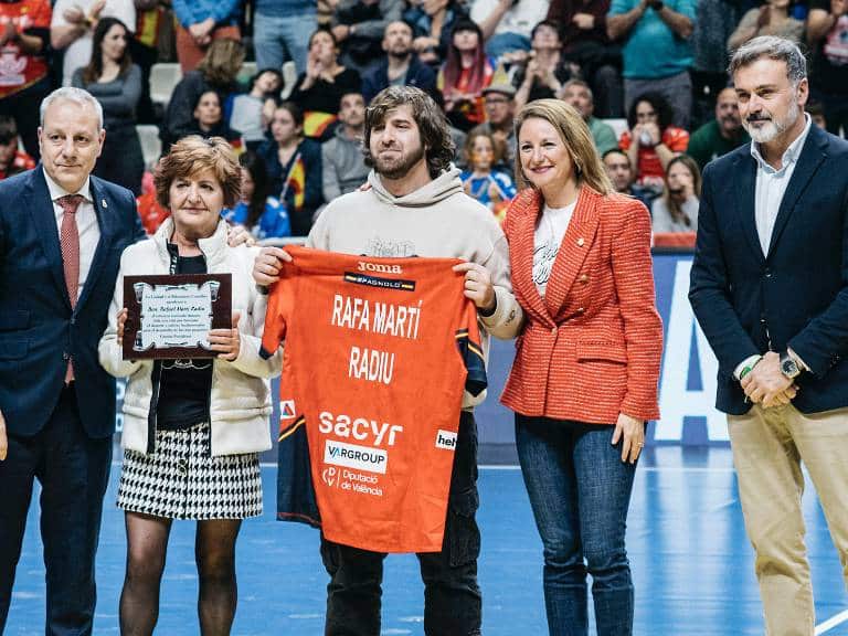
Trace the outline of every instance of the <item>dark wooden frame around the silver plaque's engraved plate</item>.
[[136, 351], [132, 346], [141, 328], [141, 304], [135, 292], [136, 283], [146, 283], [155, 287], [162, 285], [202, 285], [211, 280], [219, 283], [218, 298], [212, 301], [212, 329], [232, 329], [233, 326], [233, 277], [232, 274], [173, 274], [124, 277], [124, 307], [127, 308], [127, 321], [124, 325], [124, 359], [178, 359], [214, 358], [216, 351], [197, 347], [151, 347], [146, 351]]

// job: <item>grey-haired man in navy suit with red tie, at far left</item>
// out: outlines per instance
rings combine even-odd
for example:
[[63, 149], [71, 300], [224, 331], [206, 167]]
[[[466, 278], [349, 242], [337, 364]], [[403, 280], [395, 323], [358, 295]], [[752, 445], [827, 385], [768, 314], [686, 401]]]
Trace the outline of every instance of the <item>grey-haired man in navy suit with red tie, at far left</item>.
[[[46, 633], [92, 633], [115, 431], [115, 381], [97, 361], [97, 343], [120, 254], [144, 236], [131, 192], [89, 176], [104, 137], [94, 97], [55, 91], [41, 105], [42, 163], [0, 182], [0, 446], [8, 444], [0, 460], [0, 633], [35, 478]], [[78, 248], [63, 258], [74, 220]]]

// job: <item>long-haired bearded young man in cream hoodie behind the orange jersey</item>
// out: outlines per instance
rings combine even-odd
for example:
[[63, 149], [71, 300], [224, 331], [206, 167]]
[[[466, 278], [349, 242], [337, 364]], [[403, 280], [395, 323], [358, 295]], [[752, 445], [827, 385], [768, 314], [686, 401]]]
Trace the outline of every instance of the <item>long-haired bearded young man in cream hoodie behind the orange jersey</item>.
[[[363, 147], [373, 168], [370, 189], [331, 201], [307, 245], [368, 256], [464, 258], [455, 269], [465, 272], [465, 295], [478, 308], [484, 351], [489, 333], [515, 337], [521, 309], [512, 295], [506, 239], [491, 212], [465, 194], [460, 171], [451, 165], [447, 121], [435, 102], [411, 86], [382, 91], [365, 113]], [[283, 250], [263, 248], [254, 266], [259, 285], [277, 279], [280, 259], [289, 261]], [[463, 399], [442, 551], [417, 555], [430, 636], [480, 634], [473, 409], [483, 398]], [[322, 539], [321, 556], [330, 575], [326, 636], [379, 636], [385, 554]]]

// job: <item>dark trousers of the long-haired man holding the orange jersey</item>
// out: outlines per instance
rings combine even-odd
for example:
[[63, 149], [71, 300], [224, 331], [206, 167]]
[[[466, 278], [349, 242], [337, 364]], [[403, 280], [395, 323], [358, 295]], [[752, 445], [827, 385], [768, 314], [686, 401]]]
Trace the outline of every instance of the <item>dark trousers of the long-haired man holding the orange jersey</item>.
[[[427, 636], [478, 636], [481, 596], [477, 585], [480, 532], [475, 515], [477, 427], [474, 415], [459, 420], [451, 476], [445, 538], [441, 552], [417, 554], [424, 581], [424, 633]], [[321, 539], [327, 585], [326, 636], [379, 636], [385, 554]]]

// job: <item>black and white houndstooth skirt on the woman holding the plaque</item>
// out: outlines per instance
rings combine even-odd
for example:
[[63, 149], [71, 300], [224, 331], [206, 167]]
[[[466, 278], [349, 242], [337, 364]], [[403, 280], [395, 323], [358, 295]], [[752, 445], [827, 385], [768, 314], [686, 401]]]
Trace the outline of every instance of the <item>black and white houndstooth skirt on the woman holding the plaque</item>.
[[262, 515], [255, 453], [212, 457], [209, 423], [157, 431], [156, 452], [124, 451], [118, 508], [167, 519], [244, 519]]

